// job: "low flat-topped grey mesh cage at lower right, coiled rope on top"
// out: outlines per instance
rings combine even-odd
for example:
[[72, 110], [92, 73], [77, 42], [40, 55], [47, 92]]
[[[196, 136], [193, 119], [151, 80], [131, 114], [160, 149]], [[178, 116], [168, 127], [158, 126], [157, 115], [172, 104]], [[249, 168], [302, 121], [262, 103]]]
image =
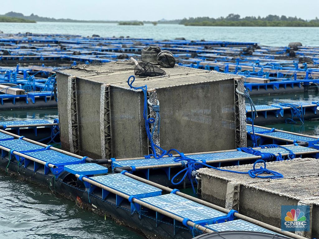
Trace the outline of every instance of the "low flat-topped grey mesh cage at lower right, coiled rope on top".
[[[309, 205], [311, 230], [301, 235], [316, 238], [319, 236], [318, 164], [318, 159], [310, 158], [266, 163], [267, 169], [284, 175], [276, 180], [202, 168], [198, 170], [201, 180], [198, 189], [206, 201], [278, 228], [282, 205]], [[251, 168], [248, 164], [222, 169], [246, 172]]]

